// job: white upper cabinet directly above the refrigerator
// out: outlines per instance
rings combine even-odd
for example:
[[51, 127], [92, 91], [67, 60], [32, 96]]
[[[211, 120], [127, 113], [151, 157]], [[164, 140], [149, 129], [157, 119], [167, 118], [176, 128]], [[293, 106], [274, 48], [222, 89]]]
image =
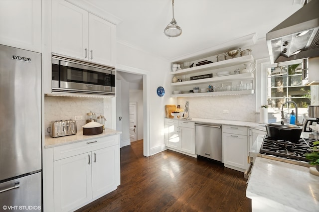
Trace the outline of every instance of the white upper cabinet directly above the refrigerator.
[[41, 0], [0, 0], [0, 44], [41, 52]]

